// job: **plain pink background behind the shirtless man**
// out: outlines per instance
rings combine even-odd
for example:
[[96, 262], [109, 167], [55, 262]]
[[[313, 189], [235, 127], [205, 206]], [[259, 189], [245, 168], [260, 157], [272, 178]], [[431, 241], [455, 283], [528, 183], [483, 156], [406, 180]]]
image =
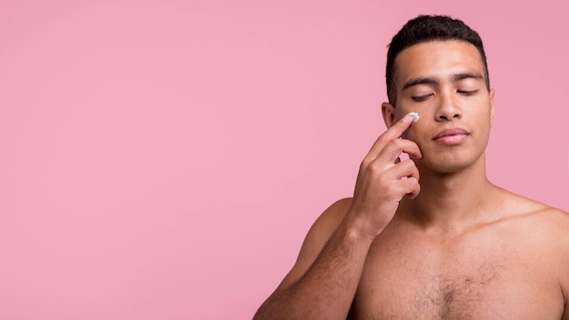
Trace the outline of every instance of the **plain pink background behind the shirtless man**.
[[490, 179], [568, 211], [569, 8], [523, 3], [0, 1], [0, 318], [251, 318], [421, 13], [483, 36]]

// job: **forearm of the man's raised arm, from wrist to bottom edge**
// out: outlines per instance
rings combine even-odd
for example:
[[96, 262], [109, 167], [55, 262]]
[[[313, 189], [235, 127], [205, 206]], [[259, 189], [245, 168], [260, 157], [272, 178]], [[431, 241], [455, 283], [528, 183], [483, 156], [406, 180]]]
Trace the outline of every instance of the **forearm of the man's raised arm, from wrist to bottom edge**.
[[341, 225], [294, 284], [275, 291], [255, 320], [345, 319], [372, 239]]

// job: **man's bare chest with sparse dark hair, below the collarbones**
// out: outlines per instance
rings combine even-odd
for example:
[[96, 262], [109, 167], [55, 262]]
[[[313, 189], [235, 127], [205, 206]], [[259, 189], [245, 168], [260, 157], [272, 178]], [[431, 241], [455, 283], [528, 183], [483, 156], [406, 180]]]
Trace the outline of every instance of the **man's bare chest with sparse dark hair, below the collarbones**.
[[[382, 240], [382, 239], [379, 239]], [[373, 319], [560, 319], [564, 298], [540, 262], [508, 239], [433, 245], [377, 241], [367, 257], [352, 315]]]

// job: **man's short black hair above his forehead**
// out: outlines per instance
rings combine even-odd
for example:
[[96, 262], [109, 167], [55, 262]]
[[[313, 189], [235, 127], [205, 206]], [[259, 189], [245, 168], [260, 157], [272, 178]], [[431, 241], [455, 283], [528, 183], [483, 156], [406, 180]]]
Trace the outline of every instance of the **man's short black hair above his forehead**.
[[387, 83], [387, 98], [391, 105], [395, 105], [397, 88], [395, 87], [395, 57], [405, 48], [435, 40], [462, 40], [476, 47], [484, 64], [484, 78], [486, 87], [490, 90], [488, 78], [488, 64], [484, 54], [484, 46], [480, 35], [468, 25], [458, 19], [447, 15], [419, 15], [409, 20], [403, 28], [394, 35], [387, 50], [387, 64], [385, 66], [385, 81]]

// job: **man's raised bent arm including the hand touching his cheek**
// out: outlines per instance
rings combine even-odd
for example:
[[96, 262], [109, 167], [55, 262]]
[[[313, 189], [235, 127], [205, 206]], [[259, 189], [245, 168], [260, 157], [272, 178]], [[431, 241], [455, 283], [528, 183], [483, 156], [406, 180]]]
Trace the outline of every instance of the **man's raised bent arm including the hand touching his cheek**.
[[375, 236], [394, 216], [404, 195], [419, 193], [419, 174], [403, 152], [420, 158], [419, 147], [399, 137], [405, 116], [381, 135], [365, 156], [354, 199], [330, 206], [306, 235], [293, 269], [257, 311], [262, 319], [345, 319]]

